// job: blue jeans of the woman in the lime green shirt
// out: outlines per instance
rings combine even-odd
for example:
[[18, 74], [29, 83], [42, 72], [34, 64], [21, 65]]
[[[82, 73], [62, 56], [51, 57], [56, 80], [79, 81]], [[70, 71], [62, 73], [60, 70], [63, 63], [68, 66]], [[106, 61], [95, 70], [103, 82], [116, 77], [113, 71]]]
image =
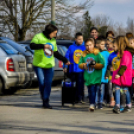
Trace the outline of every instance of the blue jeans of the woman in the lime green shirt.
[[34, 70], [38, 78], [39, 90], [42, 99], [49, 99], [54, 74], [53, 68], [45, 69], [40, 67], [34, 67]]

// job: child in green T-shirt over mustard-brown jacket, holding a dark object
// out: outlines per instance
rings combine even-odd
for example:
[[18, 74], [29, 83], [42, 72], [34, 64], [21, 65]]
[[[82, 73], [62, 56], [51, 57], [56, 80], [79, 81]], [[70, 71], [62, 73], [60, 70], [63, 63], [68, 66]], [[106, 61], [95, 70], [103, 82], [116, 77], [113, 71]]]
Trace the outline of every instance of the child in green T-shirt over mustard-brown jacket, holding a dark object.
[[84, 69], [85, 85], [88, 87], [90, 111], [95, 109], [96, 91], [101, 85], [102, 68], [104, 59], [99, 50], [95, 48], [94, 39], [89, 38], [85, 41], [86, 50], [79, 61], [79, 68]]

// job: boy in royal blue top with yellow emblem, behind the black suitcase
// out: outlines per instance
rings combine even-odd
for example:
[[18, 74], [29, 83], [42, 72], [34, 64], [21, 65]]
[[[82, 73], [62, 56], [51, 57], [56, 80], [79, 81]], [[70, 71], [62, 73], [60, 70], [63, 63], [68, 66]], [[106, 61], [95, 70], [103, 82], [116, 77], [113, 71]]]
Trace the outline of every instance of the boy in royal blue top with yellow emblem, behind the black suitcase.
[[79, 60], [85, 50], [85, 43], [83, 41], [82, 33], [76, 33], [75, 42], [69, 46], [68, 51], [66, 52], [65, 57], [70, 61], [71, 65], [63, 65], [63, 71], [67, 73], [69, 71], [69, 76], [71, 76], [72, 82], [76, 82], [76, 102], [83, 102], [83, 92], [84, 92], [84, 78], [83, 70], [79, 68]]

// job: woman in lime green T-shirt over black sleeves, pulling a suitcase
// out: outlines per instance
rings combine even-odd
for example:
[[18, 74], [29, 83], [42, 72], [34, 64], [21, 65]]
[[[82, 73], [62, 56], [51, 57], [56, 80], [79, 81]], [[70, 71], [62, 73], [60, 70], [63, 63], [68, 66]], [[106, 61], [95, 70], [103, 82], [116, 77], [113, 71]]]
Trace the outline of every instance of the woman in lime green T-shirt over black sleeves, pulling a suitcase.
[[52, 24], [45, 27], [42, 33], [36, 34], [30, 44], [34, 51], [33, 66], [36, 72], [39, 90], [43, 101], [43, 107], [52, 109], [49, 104], [51, 84], [53, 79], [53, 67], [55, 59], [63, 61], [66, 65], [70, 62], [57, 51], [56, 39], [58, 28]]

